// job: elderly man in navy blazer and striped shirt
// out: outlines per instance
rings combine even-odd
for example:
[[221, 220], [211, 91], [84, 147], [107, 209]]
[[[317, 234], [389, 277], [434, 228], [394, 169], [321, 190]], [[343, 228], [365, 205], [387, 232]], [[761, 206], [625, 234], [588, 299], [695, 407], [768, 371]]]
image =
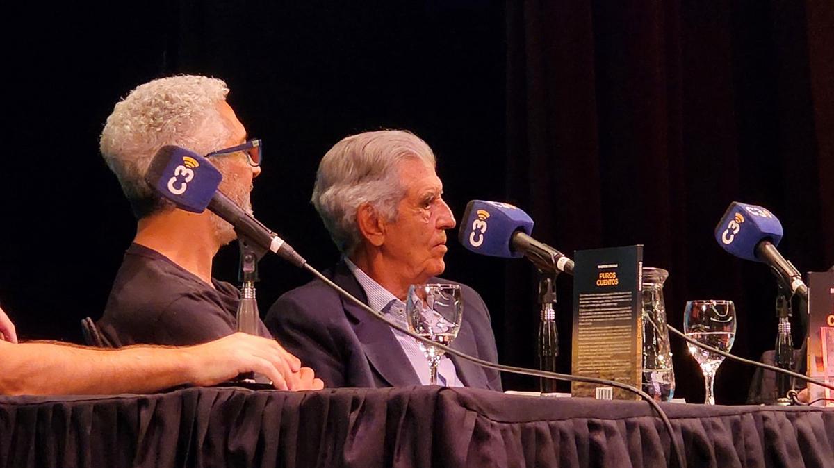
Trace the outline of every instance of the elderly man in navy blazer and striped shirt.
[[[411, 284], [450, 282], [445, 231], [455, 218], [443, 201], [431, 148], [410, 132], [364, 132], [336, 143], [319, 163], [312, 202], [339, 251], [327, 273], [389, 321], [405, 326]], [[463, 322], [452, 347], [497, 361], [484, 301], [461, 285]], [[269, 331], [312, 367], [325, 386], [426, 385], [429, 365], [414, 339], [375, 320], [314, 280], [281, 296]], [[497, 371], [444, 356], [438, 383], [500, 391]]]

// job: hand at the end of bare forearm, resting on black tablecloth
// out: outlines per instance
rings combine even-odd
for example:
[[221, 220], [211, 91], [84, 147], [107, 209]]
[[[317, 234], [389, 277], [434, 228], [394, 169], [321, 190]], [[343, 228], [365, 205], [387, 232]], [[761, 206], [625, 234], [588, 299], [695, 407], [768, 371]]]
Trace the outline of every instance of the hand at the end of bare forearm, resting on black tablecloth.
[[269, 377], [279, 390], [324, 388], [324, 382], [315, 378], [312, 369], [302, 367], [299, 358], [278, 341], [261, 336], [235, 333], [183, 351], [189, 355], [188, 369], [194, 385], [211, 386], [254, 371]]

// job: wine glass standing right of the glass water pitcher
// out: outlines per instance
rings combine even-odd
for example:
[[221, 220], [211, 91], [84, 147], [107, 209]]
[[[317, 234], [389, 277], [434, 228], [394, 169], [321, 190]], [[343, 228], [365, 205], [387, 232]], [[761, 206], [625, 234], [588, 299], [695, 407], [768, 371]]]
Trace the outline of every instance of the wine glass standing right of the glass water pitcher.
[[[736, 340], [736, 306], [732, 301], [688, 301], [683, 313], [683, 331], [699, 343], [729, 352]], [[715, 405], [713, 383], [724, 356], [688, 343], [690, 354], [701, 366], [706, 387], [706, 405]]]

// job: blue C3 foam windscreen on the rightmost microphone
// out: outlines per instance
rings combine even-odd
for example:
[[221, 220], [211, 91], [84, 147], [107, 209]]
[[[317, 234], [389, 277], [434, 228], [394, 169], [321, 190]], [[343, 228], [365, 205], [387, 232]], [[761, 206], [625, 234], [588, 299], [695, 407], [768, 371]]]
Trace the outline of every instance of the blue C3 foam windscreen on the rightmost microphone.
[[716, 227], [716, 241], [734, 256], [751, 261], [756, 258], [756, 246], [765, 239], [774, 246], [782, 237], [781, 222], [763, 207], [732, 202]]

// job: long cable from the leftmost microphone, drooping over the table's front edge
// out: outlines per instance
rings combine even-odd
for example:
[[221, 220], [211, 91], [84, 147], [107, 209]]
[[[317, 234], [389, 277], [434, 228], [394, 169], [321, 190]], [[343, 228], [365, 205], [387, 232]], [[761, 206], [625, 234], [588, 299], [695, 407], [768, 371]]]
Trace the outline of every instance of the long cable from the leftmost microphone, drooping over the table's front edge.
[[436, 341], [432, 341], [429, 338], [426, 338], [425, 336], [417, 335], [416, 333], [414, 333], [413, 331], [410, 331], [407, 328], [404, 328], [402, 326], [399, 326], [395, 323], [392, 323], [392, 322], [388, 321], [387, 319], [385, 319], [385, 317], [381, 313], [379, 313], [378, 311], [374, 311], [374, 309], [370, 308], [370, 306], [365, 304], [363, 301], [359, 301], [359, 299], [357, 297], [350, 294], [348, 291], [345, 291], [341, 286], [339, 286], [336, 283], [334, 283], [333, 281], [331, 281], [330, 278], [328, 278], [327, 276], [324, 276], [320, 271], [316, 270], [309, 263], [304, 263], [304, 266], [302, 266], [302, 267], [304, 268], [304, 270], [307, 270], [310, 273], [312, 273], [313, 276], [319, 278], [319, 280], [324, 281], [324, 284], [333, 288], [335, 291], [338, 291], [339, 294], [342, 295], [345, 299], [347, 299], [348, 301], [351, 301], [355, 305], [361, 307], [364, 311], [368, 312], [371, 316], [374, 316], [375, 319], [377, 319], [379, 321], [383, 321], [386, 325], [390, 326], [394, 330], [400, 331], [400, 332], [404, 333], [405, 335], [408, 335], [408, 336], [414, 338], [417, 341], [422, 341], [426, 345], [434, 346], [437, 349], [448, 352], [450, 355], [458, 356], [461, 359], [464, 359], [466, 361], [474, 362], [475, 364], [477, 364], [479, 366], [488, 367], [490, 369], [495, 369], [496, 371], [505, 371], [505, 372], [510, 372], [510, 373], [513, 373], [513, 374], [520, 374], [522, 376], [544, 377], [545, 379], [556, 379], [556, 380], [560, 380], [560, 381], [575, 381], [575, 382], [600, 384], [600, 385], [606, 385], [606, 386], [614, 386], [614, 387], [617, 387], [617, 388], [621, 388], [623, 390], [631, 391], [632, 393], [636, 393], [637, 395], [641, 396], [641, 398], [646, 400], [649, 403], [649, 405], [652, 407], [652, 409], [657, 412], [658, 416], [660, 416], [661, 420], [663, 421], [663, 425], [666, 426], [666, 431], [669, 431], [669, 438], [670, 438], [671, 446], [675, 451], [675, 458], [676, 458], [676, 461], [677, 461], [677, 466], [679, 466], [681, 468], [686, 466], [686, 465], [684, 465], [684, 462], [683, 462], [683, 454], [684, 454], [683, 449], [681, 448], [681, 446], [678, 443], [678, 440], [675, 437], [675, 429], [672, 427], [671, 421], [669, 421], [669, 416], [666, 416], [666, 411], [663, 411], [661, 406], [658, 405], [657, 401], [655, 401], [645, 391], [642, 391], [641, 389], [639, 389], [635, 386], [630, 386], [628, 384], [624, 384], [622, 382], [610, 381], [608, 379], [600, 379], [600, 378], [597, 378], [597, 377], [572, 376], [570, 374], [560, 374], [560, 373], [556, 373], [556, 372], [539, 371], [539, 370], [536, 370], [536, 369], [526, 369], [525, 367], [515, 367], [515, 366], [505, 366], [503, 364], [495, 364], [493, 362], [484, 361], [483, 359], [479, 359], [475, 356], [470, 356], [466, 353], [456, 351], [456, 350], [450, 348], [449, 346], [441, 345], [440, 343], [438, 343]]

